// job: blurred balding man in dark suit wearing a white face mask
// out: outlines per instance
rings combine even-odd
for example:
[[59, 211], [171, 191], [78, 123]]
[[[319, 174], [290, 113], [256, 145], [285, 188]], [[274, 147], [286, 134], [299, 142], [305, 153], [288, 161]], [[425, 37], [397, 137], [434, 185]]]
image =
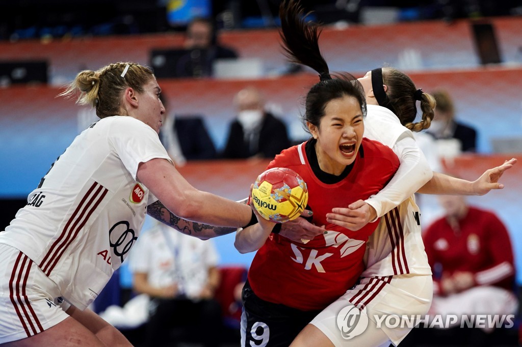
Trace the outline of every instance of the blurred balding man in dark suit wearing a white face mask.
[[290, 147], [287, 126], [266, 111], [260, 91], [248, 87], [234, 96], [237, 118], [230, 124], [223, 158], [274, 158]]

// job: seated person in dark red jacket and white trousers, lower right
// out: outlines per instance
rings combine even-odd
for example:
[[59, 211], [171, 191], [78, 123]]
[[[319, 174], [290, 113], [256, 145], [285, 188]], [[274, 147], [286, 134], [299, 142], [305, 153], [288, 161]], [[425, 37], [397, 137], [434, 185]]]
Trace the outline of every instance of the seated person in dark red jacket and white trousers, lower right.
[[434, 282], [430, 317], [454, 314], [460, 326], [462, 315], [515, 314], [515, 264], [504, 224], [464, 196], [441, 195], [440, 203], [445, 216], [423, 235]]

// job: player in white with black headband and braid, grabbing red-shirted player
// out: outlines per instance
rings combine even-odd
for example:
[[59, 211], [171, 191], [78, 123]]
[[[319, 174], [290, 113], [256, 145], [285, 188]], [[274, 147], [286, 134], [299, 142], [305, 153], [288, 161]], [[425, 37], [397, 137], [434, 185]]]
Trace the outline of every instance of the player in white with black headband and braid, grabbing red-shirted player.
[[[318, 26], [304, 22], [303, 17], [296, 2], [281, 4], [281, 36], [287, 55], [295, 63], [308, 65], [302, 46], [318, 52], [319, 35]], [[373, 317], [422, 315], [428, 312], [432, 299], [431, 270], [424, 252], [420, 213], [413, 193], [423, 187], [421, 191], [424, 193], [484, 194], [502, 188], [497, 180], [514, 164], [512, 160], [488, 170], [477, 180], [479, 183], [456, 181], [438, 173], [432, 177], [410, 129], [420, 131], [430, 126], [435, 106], [433, 97], [417, 89], [408, 76], [393, 68], [369, 71], [359, 82], [363, 85], [368, 109], [364, 137], [393, 148], [401, 159], [401, 165], [395, 177], [378, 194], [348, 207], [334, 208], [326, 215], [329, 223], [349, 230], [359, 230], [368, 221], [382, 218], [366, 242], [365, 270], [360, 274], [360, 281], [318, 314], [296, 337], [292, 346], [398, 344], [410, 328], [404, 325], [396, 329], [378, 328]], [[413, 123], [417, 101], [420, 101], [422, 120]], [[288, 230], [292, 232], [287, 233]], [[280, 232], [299, 247], [300, 241], [294, 238], [295, 234], [292, 222], [283, 225]], [[340, 320], [338, 317], [349, 306], [357, 307], [369, 322], [366, 331], [360, 336], [352, 335], [352, 339], [346, 336], [352, 327], [346, 325], [346, 321], [343, 326], [342, 317]]]

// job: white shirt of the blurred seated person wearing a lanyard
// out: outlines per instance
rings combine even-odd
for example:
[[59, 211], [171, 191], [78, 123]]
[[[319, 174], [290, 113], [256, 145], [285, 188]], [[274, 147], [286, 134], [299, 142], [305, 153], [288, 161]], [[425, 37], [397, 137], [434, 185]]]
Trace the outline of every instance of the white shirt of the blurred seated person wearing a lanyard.
[[208, 282], [208, 270], [218, 266], [219, 255], [212, 240], [200, 240], [157, 222], [144, 232], [129, 265], [147, 274], [152, 287], [177, 284], [188, 298], [197, 298]]

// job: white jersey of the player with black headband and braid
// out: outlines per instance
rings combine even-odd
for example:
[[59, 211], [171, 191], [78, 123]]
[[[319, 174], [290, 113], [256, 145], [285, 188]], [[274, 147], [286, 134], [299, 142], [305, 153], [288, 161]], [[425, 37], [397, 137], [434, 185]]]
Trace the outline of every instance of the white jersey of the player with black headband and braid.
[[[421, 162], [422, 160], [425, 162], [426, 159], [418, 146], [417, 149], [414, 148], [416, 146], [412, 132], [400, 124], [392, 111], [381, 106], [367, 106], [368, 115], [364, 120], [364, 137], [392, 148], [401, 160], [401, 167], [403, 165], [401, 155], [404, 154], [405, 148], [410, 152], [420, 153], [417, 158]], [[366, 269], [362, 277], [403, 274], [431, 275], [428, 256], [424, 252], [421, 237], [420, 211], [413, 195], [414, 191], [431, 178], [432, 172], [431, 170], [426, 171], [425, 166], [426, 164], [421, 165], [421, 173], [418, 175], [412, 175], [412, 172], [418, 172], [418, 169], [401, 171], [399, 168], [392, 179], [391, 183], [395, 185], [391, 193], [394, 196], [392, 199], [381, 200], [384, 201], [383, 205], [386, 205], [381, 210], [387, 213], [381, 217], [381, 221], [366, 244], [364, 255]], [[414, 191], [410, 193], [409, 197], [404, 196], [411, 191], [411, 187], [415, 187]], [[377, 200], [375, 197], [373, 199]], [[394, 200], [400, 203], [388, 212], [389, 205]], [[372, 206], [374, 205], [372, 204]]]

